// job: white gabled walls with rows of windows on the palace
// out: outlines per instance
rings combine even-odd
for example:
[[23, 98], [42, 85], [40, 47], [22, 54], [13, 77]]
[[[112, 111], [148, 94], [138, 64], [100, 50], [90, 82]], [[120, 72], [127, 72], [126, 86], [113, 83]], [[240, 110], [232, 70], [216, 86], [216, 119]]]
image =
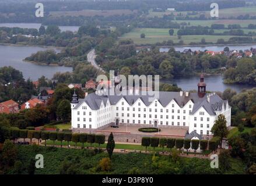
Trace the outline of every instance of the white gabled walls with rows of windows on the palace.
[[[189, 98], [188, 94], [190, 93], [186, 92], [183, 94], [180, 92], [178, 96], [186, 99]], [[163, 106], [157, 99], [150, 102], [149, 105], [145, 105], [141, 98], [137, 98], [131, 104], [128, 103], [124, 96], [117, 102], [112, 103], [108, 97], [104, 97], [104, 101], [97, 97], [95, 98], [98, 101], [97, 109], [92, 109], [88, 101], [92, 101], [94, 99], [93, 96], [89, 94], [79, 103], [71, 103], [72, 128], [96, 129], [110, 123], [152, 124], [155, 127], [188, 127], [189, 133], [196, 131], [201, 135], [212, 135], [211, 128], [220, 114], [226, 117], [227, 126], [230, 126], [231, 108], [229, 103], [222, 101], [216, 94], [209, 94], [207, 98], [206, 96], [202, 98], [202, 106], [197, 108], [197, 110], [195, 110], [194, 106], [201, 102], [195, 105], [193, 99], [189, 99], [183, 106], [180, 106], [176, 99], [171, 99], [166, 106]], [[217, 99], [218, 103], [222, 103], [222, 106], [221, 109], [218, 107], [218, 109], [208, 113], [205, 105], [212, 105], [211, 99]]]

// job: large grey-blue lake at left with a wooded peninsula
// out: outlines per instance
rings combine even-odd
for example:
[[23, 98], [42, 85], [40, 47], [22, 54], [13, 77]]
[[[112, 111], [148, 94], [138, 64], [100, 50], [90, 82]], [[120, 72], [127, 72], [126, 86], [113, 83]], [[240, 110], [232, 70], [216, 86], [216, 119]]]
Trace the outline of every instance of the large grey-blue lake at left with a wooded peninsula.
[[[24, 58], [30, 56], [32, 53], [46, 49], [48, 48], [0, 45], [0, 67], [12, 66], [16, 70], [22, 71], [25, 79], [30, 78], [31, 80], [37, 80], [41, 76], [52, 78], [57, 71], [72, 71], [72, 67], [41, 66], [23, 61]], [[59, 52], [59, 50], [55, 50]]]

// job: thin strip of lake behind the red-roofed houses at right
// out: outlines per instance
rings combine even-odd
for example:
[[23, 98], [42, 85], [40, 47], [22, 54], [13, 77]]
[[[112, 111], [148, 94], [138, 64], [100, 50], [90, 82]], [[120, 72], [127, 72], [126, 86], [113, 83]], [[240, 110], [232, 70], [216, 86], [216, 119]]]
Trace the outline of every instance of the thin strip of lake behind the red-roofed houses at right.
[[[246, 50], [246, 49], [251, 49], [256, 48], [255, 44], [252, 45], [212, 45], [212, 46], [191, 46], [191, 47], [174, 47], [176, 51], [183, 52], [184, 49], [191, 49], [192, 51], [223, 51], [225, 47], [229, 47], [230, 51], [231, 50]], [[160, 52], [168, 52], [170, 47], [162, 47], [159, 49]]]

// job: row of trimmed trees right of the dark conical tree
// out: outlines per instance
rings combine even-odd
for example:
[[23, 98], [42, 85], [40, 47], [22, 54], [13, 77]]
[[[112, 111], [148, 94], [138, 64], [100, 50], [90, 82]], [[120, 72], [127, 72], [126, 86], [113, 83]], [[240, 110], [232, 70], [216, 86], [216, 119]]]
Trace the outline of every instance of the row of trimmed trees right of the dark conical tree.
[[[220, 144], [220, 138], [219, 137], [213, 137], [212, 140], [209, 140], [209, 150], [216, 151], [218, 149], [218, 145]], [[145, 146], [146, 149], [148, 146], [152, 146], [154, 151], [157, 146], [160, 146], [164, 149], [166, 146], [167, 148], [174, 148], [177, 149], [188, 149], [192, 148], [194, 151], [197, 151], [198, 148], [200, 148], [202, 151], [205, 151], [208, 147], [208, 141], [207, 140], [190, 140], [190, 139], [180, 139], [180, 138], [157, 138], [157, 137], [143, 137], [142, 146]]]

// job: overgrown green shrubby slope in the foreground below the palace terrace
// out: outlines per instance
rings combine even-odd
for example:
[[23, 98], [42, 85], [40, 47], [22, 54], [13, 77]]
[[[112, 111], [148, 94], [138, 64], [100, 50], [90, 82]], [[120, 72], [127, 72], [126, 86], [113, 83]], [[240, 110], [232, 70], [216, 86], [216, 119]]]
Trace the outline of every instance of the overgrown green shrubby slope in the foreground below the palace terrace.
[[[37, 145], [17, 146], [16, 160], [22, 162], [22, 174], [27, 174], [29, 162], [36, 154], [44, 156], [44, 169], [35, 174], [221, 174], [211, 169], [209, 159], [178, 158], [146, 153], [114, 153], [111, 169], [101, 170], [99, 162], [107, 153], [96, 153], [90, 149], [52, 148]], [[239, 159], [230, 159], [232, 168], [226, 174], [244, 174], [245, 165]], [[13, 167], [8, 174], [15, 174]]]

